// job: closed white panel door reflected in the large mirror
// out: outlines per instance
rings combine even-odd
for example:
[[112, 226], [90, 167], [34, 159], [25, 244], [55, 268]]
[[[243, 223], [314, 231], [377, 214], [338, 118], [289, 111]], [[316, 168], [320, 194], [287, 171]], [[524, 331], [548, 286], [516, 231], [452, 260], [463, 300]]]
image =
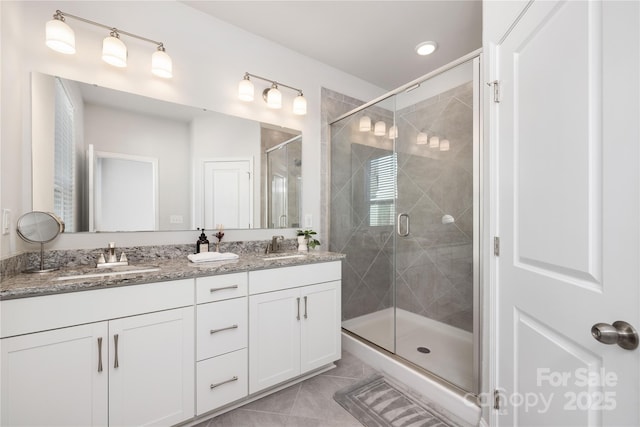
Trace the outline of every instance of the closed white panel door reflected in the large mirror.
[[204, 162], [204, 228], [251, 228], [253, 180], [249, 160]]

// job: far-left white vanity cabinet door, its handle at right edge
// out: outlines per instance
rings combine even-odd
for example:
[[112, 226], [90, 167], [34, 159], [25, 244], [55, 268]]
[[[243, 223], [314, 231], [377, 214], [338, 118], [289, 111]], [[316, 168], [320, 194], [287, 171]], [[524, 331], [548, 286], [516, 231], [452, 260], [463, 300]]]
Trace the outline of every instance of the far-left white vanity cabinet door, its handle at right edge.
[[3, 339], [2, 425], [106, 426], [107, 341], [106, 322]]

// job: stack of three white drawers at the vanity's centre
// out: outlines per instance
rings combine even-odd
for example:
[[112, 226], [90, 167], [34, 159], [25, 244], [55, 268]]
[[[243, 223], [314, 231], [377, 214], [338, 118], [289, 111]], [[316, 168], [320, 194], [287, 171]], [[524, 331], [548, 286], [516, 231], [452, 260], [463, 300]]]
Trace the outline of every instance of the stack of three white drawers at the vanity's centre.
[[248, 394], [247, 273], [196, 279], [196, 414]]

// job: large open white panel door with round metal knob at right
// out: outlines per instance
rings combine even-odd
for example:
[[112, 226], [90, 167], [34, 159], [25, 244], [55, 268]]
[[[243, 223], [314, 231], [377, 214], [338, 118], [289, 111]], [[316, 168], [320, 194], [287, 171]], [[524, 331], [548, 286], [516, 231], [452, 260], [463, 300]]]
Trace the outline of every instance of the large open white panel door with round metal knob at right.
[[591, 333], [640, 327], [639, 6], [536, 1], [497, 46], [499, 425], [640, 425], [640, 352]]

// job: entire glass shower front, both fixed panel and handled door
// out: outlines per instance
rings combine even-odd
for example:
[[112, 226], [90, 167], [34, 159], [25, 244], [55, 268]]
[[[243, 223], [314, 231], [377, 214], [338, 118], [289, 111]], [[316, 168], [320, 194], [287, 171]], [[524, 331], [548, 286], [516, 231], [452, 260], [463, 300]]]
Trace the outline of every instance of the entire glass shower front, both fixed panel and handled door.
[[343, 328], [466, 391], [478, 375], [478, 84], [469, 61], [331, 125]]

